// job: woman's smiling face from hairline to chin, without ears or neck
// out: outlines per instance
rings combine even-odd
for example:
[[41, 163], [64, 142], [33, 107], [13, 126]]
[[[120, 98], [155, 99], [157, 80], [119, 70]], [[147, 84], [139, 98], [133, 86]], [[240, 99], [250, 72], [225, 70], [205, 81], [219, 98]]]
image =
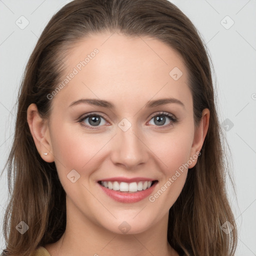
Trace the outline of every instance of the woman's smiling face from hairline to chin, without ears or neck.
[[101, 33], [64, 62], [45, 136], [67, 211], [115, 233], [166, 221], [201, 146], [181, 57], [157, 39]]

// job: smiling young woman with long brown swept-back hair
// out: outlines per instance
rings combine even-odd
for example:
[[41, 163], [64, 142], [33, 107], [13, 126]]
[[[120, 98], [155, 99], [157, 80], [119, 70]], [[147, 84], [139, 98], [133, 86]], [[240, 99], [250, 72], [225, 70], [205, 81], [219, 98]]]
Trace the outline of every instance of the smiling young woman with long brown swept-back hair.
[[221, 136], [206, 50], [174, 4], [66, 4], [21, 84], [2, 255], [233, 255]]

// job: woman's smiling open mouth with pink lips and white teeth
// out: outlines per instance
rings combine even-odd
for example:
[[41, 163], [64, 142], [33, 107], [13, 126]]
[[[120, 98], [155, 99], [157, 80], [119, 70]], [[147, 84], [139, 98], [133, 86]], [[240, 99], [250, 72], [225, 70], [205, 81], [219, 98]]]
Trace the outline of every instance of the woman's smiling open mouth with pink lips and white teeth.
[[158, 180], [129, 180], [125, 182], [120, 180], [99, 180], [97, 181], [101, 191], [111, 199], [123, 202], [134, 203], [149, 196], [155, 189]]

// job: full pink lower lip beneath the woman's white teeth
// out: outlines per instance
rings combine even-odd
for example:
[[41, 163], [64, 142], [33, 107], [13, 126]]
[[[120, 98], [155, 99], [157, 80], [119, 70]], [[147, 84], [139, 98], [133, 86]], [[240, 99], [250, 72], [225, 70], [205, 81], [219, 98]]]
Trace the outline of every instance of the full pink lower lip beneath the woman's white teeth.
[[118, 201], [118, 202], [125, 202], [125, 203], [132, 203], [132, 202], [138, 202], [145, 197], [147, 197], [150, 193], [152, 193], [155, 185], [157, 182], [154, 182], [152, 186], [145, 190], [136, 191], [136, 192], [120, 192], [113, 189], [108, 189], [99, 183], [97, 183], [100, 188], [112, 199]]

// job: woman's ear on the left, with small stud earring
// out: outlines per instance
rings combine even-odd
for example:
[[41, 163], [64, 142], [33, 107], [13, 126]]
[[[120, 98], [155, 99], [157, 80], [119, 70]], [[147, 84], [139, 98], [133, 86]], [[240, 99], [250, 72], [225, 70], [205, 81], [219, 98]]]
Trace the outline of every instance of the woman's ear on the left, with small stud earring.
[[53, 162], [47, 120], [40, 116], [36, 104], [32, 103], [28, 106], [26, 118], [38, 153], [44, 161]]

